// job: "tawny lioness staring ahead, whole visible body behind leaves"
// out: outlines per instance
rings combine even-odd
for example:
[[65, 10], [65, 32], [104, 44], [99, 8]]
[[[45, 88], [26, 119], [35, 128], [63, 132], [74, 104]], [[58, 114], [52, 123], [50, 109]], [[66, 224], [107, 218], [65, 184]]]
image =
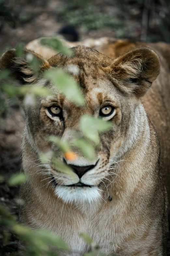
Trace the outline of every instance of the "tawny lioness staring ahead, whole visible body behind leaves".
[[[22, 168], [29, 175], [21, 187], [25, 201], [21, 222], [60, 235], [73, 251], [71, 255], [91, 250], [80, 232], [89, 234], [107, 255], [166, 255], [167, 196], [161, 165], [166, 174], [170, 46], [145, 44], [149, 49], [140, 47], [143, 45], [122, 41], [93, 45], [108, 57], [87, 46], [76, 46], [71, 57], [57, 54], [48, 61], [26, 49], [25, 56], [31, 52], [41, 61], [38, 77], [32, 75], [26, 57], [16, 56], [15, 49], [1, 58], [0, 68], [11, 71], [22, 84], [44, 84], [51, 90], [53, 85], [42, 79], [45, 70], [78, 67], [72, 76], [80, 84], [85, 106], [76, 106], [58, 91], [54, 96], [39, 97], [34, 107], [21, 102], [26, 115]], [[125, 50], [129, 51], [123, 53]], [[79, 133], [79, 118], [84, 114], [113, 123], [111, 130], [100, 134], [96, 158], [90, 162], [75, 152], [77, 157], [68, 160], [60, 153], [60, 160], [74, 169], [72, 179], [51, 162], [41, 166], [40, 154], [56, 150], [46, 136], [69, 141], [74, 136], [70, 129]], [[161, 161], [159, 139], [149, 118], [160, 139]], [[53, 182], [47, 186], [49, 174]]]

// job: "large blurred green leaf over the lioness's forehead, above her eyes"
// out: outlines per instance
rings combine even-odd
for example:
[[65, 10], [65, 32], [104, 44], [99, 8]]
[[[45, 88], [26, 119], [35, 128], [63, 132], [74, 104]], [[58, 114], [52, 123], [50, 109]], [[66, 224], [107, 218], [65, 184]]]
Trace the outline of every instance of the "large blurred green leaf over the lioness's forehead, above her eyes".
[[84, 98], [77, 82], [62, 69], [50, 69], [45, 72], [45, 77], [65, 94], [65, 96], [78, 105], [83, 105]]

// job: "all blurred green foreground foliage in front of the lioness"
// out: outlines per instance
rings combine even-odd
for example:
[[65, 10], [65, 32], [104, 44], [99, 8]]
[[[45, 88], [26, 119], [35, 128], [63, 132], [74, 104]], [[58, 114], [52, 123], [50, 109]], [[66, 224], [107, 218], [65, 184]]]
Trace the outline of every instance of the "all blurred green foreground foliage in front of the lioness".
[[[49, 39], [48, 42], [50, 47], [54, 44], [53, 39]], [[61, 43], [58, 43], [59, 50], [63, 50], [64, 53], [70, 54]], [[56, 49], [56, 45], [55, 45]], [[25, 56], [25, 52], [23, 49], [23, 45], [20, 44], [17, 46], [17, 56], [19, 58], [27, 58], [30, 67], [34, 70], [35, 73], [39, 72], [39, 63], [34, 56], [28, 53]], [[66, 72], [61, 69], [52, 69], [45, 73], [45, 78], [48, 78], [54, 86], [56, 86], [57, 90], [60, 90], [65, 97], [67, 97], [70, 101], [74, 102], [74, 104], [78, 104], [78, 106], [86, 104], [83, 94], [81, 93], [80, 87], [78, 83], [71, 78]], [[1, 92], [2, 95], [5, 95], [6, 103], [3, 101], [1, 108], [1, 116], [3, 115], [4, 106], [7, 108], [9, 99], [15, 99], [17, 97], [24, 97], [25, 104], [29, 104], [30, 106], [34, 106], [37, 104], [36, 98], [38, 96], [47, 96], [48, 94], [53, 94], [47, 88], [37, 86], [37, 85], [25, 85], [21, 86], [18, 82], [11, 80], [10, 74], [7, 70], [2, 70], [0, 73], [1, 80]], [[55, 94], [55, 93], [54, 93]], [[57, 145], [59, 150], [63, 151], [66, 157], [74, 157], [74, 152], [72, 148], [77, 148], [86, 158], [93, 159], [95, 155], [95, 147], [100, 144], [99, 133], [103, 132], [109, 128], [111, 125], [106, 123], [101, 118], [94, 118], [92, 116], [84, 115], [80, 120], [80, 128], [83, 136], [75, 135], [73, 141], [70, 141], [69, 144], [67, 142], [63, 142], [60, 138], [50, 136], [48, 139]], [[41, 156], [42, 162], [48, 159], [48, 153]], [[54, 156], [54, 164], [57, 166], [61, 172], [66, 172], [71, 175], [72, 170], [65, 166], [64, 163], [59, 162], [57, 160], [57, 156]], [[1, 180], [4, 179], [3, 176], [0, 177]], [[9, 186], [17, 186], [23, 182], [25, 182], [29, 177], [26, 177], [23, 173], [16, 173], [12, 175], [8, 179]], [[19, 202], [19, 204], [23, 204], [24, 202]], [[52, 234], [48, 230], [30, 230], [27, 227], [18, 223], [18, 219], [16, 215], [11, 214], [7, 208], [0, 205], [0, 224], [3, 225], [3, 236], [4, 236], [4, 244], [1, 248], [1, 252], [3, 253], [4, 247], [8, 244], [10, 239], [11, 232], [14, 233], [18, 239], [23, 240], [27, 244], [27, 251], [25, 253], [26, 256], [30, 255], [54, 255], [51, 250], [51, 247], [57, 247], [59, 250], [70, 251], [67, 245], [55, 234]], [[100, 248], [98, 245], [95, 245], [92, 241], [92, 238], [88, 236], [88, 234], [81, 233], [80, 236], [85, 240], [86, 243], [92, 245], [92, 252], [86, 253], [86, 255], [102, 255], [100, 253]], [[18, 254], [17, 252], [15, 255]]]

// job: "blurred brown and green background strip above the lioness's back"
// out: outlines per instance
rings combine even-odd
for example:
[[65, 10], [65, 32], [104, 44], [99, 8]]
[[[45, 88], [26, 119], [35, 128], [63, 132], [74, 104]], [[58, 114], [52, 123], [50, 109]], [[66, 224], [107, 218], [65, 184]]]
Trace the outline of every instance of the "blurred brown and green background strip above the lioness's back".
[[0, 51], [74, 26], [79, 39], [170, 42], [169, 0], [0, 0]]

